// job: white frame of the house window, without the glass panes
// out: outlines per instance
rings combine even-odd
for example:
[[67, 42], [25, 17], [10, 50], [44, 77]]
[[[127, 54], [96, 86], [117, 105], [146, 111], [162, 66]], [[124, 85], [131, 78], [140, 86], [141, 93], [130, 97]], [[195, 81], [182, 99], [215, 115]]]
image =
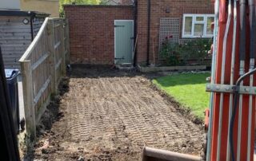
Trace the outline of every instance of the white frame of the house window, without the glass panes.
[[[185, 18], [186, 17], [192, 17], [192, 31], [191, 35], [185, 35]], [[197, 17], [203, 17], [203, 22], [197, 22]], [[214, 14], [183, 14], [183, 24], [182, 24], [182, 38], [197, 38], [197, 37], [204, 37], [204, 38], [210, 38], [213, 37], [213, 34], [207, 34], [207, 19], [208, 18], [214, 18]], [[194, 25], [195, 24], [203, 24], [203, 35], [198, 36], [194, 35]]]

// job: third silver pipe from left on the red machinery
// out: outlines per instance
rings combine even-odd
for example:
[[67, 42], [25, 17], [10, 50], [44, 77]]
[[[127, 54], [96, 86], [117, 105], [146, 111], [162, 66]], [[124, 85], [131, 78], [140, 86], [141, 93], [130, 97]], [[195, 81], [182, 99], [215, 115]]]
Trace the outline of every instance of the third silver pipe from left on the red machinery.
[[[233, 26], [233, 44], [232, 44], [232, 56], [231, 56], [231, 69], [230, 69], [230, 85], [234, 85], [234, 60], [235, 60], [235, 46], [237, 36], [237, 2], [234, 1], [234, 26]], [[233, 93], [230, 93], [230, 108], [229, 108], [229, 130], [227, 139], [226, 161], [230, 161], [230, 121], [233, 108]]]

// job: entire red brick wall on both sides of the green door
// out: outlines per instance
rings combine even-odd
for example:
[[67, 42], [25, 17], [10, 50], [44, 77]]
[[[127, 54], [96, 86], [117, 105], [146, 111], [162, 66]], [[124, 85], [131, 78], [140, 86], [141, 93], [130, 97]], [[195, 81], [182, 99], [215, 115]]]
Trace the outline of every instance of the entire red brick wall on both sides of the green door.
[[[148, 0], [138, 0], [138, 64], [146, 63], [147, 7]], [[67, 5], [64, 10], [70, 22], [71, 63], [114, 64], [114, 20], [134, 19], [133, 6]], [[158, 62], [160, 19], [178, 18], [182, 33], [183, 14], [214, 14], [214, 3], [212, 0], [151, 0], [150, 63], [153, 53]]]

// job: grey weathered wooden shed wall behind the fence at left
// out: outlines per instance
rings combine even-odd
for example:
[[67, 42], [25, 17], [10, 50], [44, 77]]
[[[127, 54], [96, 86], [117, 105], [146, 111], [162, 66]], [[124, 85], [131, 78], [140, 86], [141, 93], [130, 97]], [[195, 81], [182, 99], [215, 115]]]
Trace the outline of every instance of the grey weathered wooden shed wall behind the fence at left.
[[[19, 59], [47, 16], [43, 13], [0, 10], [0, 46], [5, 68], [20, 69]], [[24, 23], [25, 20], [27, 23]]]

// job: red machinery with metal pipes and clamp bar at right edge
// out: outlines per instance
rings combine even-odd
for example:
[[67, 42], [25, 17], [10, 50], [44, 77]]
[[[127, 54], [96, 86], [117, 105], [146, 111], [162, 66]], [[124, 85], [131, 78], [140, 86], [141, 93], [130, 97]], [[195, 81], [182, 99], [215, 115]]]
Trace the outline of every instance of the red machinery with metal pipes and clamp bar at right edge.
[[255, 0], [215, 0], [206, 160], [254, 159]]

